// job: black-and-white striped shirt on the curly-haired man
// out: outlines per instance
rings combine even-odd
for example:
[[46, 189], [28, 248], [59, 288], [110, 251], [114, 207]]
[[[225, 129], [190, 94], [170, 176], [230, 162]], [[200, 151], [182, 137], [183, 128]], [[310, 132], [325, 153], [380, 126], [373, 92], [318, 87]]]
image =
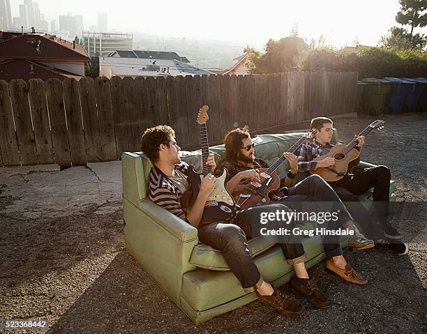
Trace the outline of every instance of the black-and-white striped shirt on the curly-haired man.
[[[183, 172], [187, 175], [188, 164], [186, 162], [179, 162], [175, 165], [175, 170]], [[182, 220], [186, 220], [186, 214], [183, 212], [181, 202], [179, 199], [183, 195], [183, 192], [174, 185], [174, 183], [163, 173], [158, 167], [153, 166], [150, 172], [150, 183], [149, 183], [149, 199], [162, 206], [167, 211], [170, 211], [174, 215], [177, 215]]]

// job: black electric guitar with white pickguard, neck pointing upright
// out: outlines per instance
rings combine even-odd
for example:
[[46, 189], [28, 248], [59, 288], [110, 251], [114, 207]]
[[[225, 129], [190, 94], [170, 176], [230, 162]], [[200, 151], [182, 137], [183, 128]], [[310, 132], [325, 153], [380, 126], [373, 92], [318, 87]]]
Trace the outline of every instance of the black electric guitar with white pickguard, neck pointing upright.
[[[211, 172], [211, 166], [207, 165], [207, 159], [209, 156], [209, 143], [207, 135], [206, 122], [209, 119], [207, 111], [209, 107], [204, 105], [197, 114], [197, 123], [200, 124], [200, 137], [202, 139], [202, 164], [203, 172], [197, 173], [194, 170], [194, 166], [188, 167], [188, 182], [191, 184], [191, 198], [188, 201], [188, 208], [193, 206], [197, 195], [200, 191], [200, 184], [202, 183], [202, 177], [207, 176]], [[202, 215], [201, 222], [220, 222], [224, 220], [230, 220], [234, 217], [235, 203], [232, 195], [225, 188], [227, 179], [227, 169], [224, 169], [223, 174], [216, 178], [216, 188], [212, 190], [209, 195], [206, 204], [204, 205], [204, 212]], [[185, 195], [185, 194], [184, 194]], [[183, 195], [183, 197], [184, 197]]]

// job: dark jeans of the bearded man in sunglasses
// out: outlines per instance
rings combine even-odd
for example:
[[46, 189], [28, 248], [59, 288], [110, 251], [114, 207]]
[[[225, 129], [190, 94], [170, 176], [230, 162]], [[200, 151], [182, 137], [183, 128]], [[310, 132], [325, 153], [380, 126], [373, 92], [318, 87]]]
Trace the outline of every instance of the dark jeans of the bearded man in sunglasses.
[[[306, 179], [300, 181], [290, 188], [282, 188], [280, 190], [286, 196], [280, 199], [280, 202], [285, 203], [290, 208], [297, 211], [302, 209], [301, 202], [316, 202], [317, 212], [338, 212], [338, 220], [334, 222], [329, 220], [327, 229], [338, 229], [345, 222], [352, 220], [352, 216], [347, 212], [343, 202], [341, 202], [336, 192], [331, 186], [318, 175], [310, 175]], [[322, 238], [323, 249], [327, 257], [336, 257], [343, 254], [340, 246], [340, 236], [324, 236]], [[282, 249], [285, 252], [287, 244], [282, 244]], [[287, 259], [301, 256], [304, 253], [304, 248], [301, 243], [296, 244], [294, 248], [297, 250], [295, 254], [288, 255], [285, 252]], [[288, 252], [289, 253], [289, 252]]]

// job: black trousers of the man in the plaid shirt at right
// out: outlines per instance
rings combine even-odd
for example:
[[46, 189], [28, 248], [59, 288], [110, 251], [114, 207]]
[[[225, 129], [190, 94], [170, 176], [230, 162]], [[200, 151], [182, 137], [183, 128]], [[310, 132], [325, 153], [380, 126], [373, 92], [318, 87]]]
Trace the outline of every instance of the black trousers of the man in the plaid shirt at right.
[[[389, 191], [390, 191], [390, 169], [386, 166], [375, 166], [366, 168], [364, 171], [354, 175], [353, 179], [347, 181], [334, 190], [346, 202], [346, 206], [354, 219], [359, 223], [368, 238], [377, 241], [384, 237], [384, 234], [377, 228], [376, 222], [387, 222], [389, 217]], [[374, 211], [371, 215], [361, 204], [357, 195], [361, 195], [366, 190], [374, 188], [373, 200]]]

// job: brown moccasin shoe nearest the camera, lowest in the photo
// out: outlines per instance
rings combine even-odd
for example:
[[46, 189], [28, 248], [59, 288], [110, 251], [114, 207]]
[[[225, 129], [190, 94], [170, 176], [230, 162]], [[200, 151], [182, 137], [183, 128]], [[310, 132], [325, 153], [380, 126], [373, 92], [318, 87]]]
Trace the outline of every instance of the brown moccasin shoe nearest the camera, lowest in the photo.
[[298, 318], [306, 312], [306, 308], [304, 308], [304, 305], [302, 305], [300, 301], [281, 293], [275, 287], [273, 289], [274, 292], [271, 296], [261, 296], [258, 294], [258, 291], [257, 295], [262, 301], [264, 301], [264, 303], [271, 305], [285, 317]]

